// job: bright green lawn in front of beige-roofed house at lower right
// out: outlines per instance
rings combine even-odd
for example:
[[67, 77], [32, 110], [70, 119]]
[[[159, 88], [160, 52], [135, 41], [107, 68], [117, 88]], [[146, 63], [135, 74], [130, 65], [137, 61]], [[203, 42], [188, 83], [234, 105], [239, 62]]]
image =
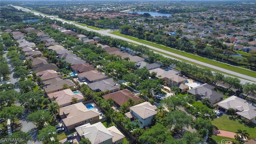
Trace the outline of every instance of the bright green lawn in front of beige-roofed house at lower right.
[[230, 120], [226, 115], [223, 115], [220, 118], [215, 118], [212, 121], [212, 124], [219, 130], [226, 130], [229, 132], [237, 132], [238, 129], [247, 130], [248, 134], [256, 132], [256, 124], [253, 124], [252, 122], [249, 125], [240, 124], [236, 120]]

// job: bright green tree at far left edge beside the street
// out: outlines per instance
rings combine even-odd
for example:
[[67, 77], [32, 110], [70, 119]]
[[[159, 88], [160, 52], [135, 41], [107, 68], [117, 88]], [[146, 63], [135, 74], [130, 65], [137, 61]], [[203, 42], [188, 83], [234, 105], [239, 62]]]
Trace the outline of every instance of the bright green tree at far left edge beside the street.
[[19, 119], [24, 113], [24, 108], [22, 106], [9, 106], [4, 107], [0, 112], [2, 118], [10, 118], [14, 124], [16, 119]]

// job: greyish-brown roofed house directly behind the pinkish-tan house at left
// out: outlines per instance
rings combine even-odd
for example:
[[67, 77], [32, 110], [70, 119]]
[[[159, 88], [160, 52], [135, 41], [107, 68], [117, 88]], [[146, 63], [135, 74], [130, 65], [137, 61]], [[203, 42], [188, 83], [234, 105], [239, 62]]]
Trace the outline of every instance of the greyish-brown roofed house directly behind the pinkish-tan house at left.
[[68, 88], [75, 87], [75, 84], [70, 79], [62, 80], [61, 78], [52, 78], [44, 82], [43, 88], [46, 94], [49, 94], [52, 92], [58, 92], [60, 90], [63, 90], [63, 84], [67, 84]]

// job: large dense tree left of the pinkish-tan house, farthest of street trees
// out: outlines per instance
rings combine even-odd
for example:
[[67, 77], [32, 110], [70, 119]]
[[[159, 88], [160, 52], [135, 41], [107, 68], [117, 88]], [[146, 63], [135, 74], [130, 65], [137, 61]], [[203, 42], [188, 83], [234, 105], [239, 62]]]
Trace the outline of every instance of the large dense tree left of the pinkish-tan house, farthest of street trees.
[[32, 111], [37, 110], [38, 107], [41, 106], [42, 102], [44, 101], [44, 91], [30, 91], [27, 93], [23, 93], [18, 97], [18, 102]]

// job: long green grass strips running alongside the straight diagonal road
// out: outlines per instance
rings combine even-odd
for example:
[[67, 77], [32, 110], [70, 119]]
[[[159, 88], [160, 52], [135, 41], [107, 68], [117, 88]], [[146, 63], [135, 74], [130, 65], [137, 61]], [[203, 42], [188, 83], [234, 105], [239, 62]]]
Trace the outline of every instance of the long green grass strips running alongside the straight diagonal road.
[[[160, 48], [162, 50], [166, 50], [168, 52], [172, 52], [172, 53], [175, 53], [175, 54], [179, 54], [179, 55], [182, 55], [182, 56], [186, 56], [188, 58], [192, 58], [194, 60], [198, 60], [200, 62], [205, 62], [205, 63], [208, 63], [208, 64], [212, 64], [214, 66], [218, 66], [220, 68], [225, 68], [227, 70], [231, 70], [231, 71], [234, 71], [236, 70], [236, 72], [239, 72], [240, 74], [246, 74], [248, 76], [252, 76], [254, 78], [256, 78], [256, 72], [252, 72], [250, 70], [245, 70], [243, 68], [238, 68], [238, 67], [235, 67], [235, 66], [231, 66], [229, 64], [223, 64], [221, 62], [217, 62], [217, 61], [214, 61], [214, 60], [210, 60], [210, 59], [207, 59], [207, 58], [203, 58], [203, 57], [200, 57], [200, 56], [197, 56], [197, 55], [194, 55], [194, 54], [189, 54], [189, 53], [186, 53], [186, 52], [182, 52], [180, 50], [176, 50], [176, 49], [173, 49], [173, 48], [168, 48], [166, 46], [163, 46], [163, 45], [160, 45], [160, 44], [155, 44], [155, 43], [152, 43], [152, 42], [148, 42], [146, 40], [140, 40], [138, 38], [134, 38], [134, 37], [130, 37], [130, 36], [126, 36], [124, 34], [120, 34], [120, 32], [111, 32], [112, 34], [115, 34], [115, 35], [118, 35], [118, 36], [122, 36], [122, 37], [125, 37], [125, 38], [129, 38], [130, 40], [134, 40], [136, 42], [140, 42], [140, 43], [143, 43], [143, 44], [147, 44], [149, 46], [154, 46], [156, 48]], [[157, 50], [154, 50], [155, 52], [159, 52], [161, 54], [165, 54], [163, 52], [160, 52], [160, 51], [157, 51]], [[167, 56], [170, 56], [170, 57], [173, 57], [173, 58], [176, 58], [178, 60], [182, 60], [182, 61], [185, 61], [185, 62], [189, 62], [191, 64], [195, 64], [197, 66], [201, 66], [203, 68], [209, 68], [209, 67], [206, 67], [206, 66], [202, 66], [202, 65], [198, 65], [196, 63], [193, 63], [193, 62], [190, 62], [188, 60], [184, 60], [182, 58], [179, 58], [179, 57], [176, 57], [176, 56], [172, 56], [172, 55], [168, 55], [168, 54], [165, 54]], [[214, 70], [214, 71], [217, 71], [213, 68], [209, 68], [210, 70]], [[222, 72], [223, 73], [223, 72]], [[228, 73], [226, 73], [228, 74]], [[230, 75], [230, 74], [229, 74]]]

